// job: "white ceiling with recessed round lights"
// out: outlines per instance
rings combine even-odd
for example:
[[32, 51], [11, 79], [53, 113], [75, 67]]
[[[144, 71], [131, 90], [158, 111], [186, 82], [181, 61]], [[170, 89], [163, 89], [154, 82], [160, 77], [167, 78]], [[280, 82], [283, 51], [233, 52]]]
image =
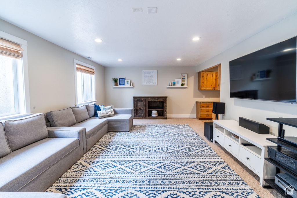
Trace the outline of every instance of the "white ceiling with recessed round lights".
[[296, 0], [1, 0], [0, 18], [107, 67], [197, 66], [296, 11]]

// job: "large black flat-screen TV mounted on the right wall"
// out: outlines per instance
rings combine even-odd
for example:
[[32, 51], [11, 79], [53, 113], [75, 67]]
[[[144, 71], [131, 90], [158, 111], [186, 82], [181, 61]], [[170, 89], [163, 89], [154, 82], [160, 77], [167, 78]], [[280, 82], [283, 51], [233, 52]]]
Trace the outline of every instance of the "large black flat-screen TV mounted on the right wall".
[[230, 98], [296, 103], [296, 37], [230, 61]]

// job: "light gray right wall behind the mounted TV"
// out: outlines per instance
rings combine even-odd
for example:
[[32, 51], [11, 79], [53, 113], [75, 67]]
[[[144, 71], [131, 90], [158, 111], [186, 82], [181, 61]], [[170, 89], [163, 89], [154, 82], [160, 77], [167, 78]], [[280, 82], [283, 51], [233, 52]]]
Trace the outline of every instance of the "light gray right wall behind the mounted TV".
[[[266, 120], [273, 117], [297, 117], [297, 104], [230, 98], [229, 61], [254, 51], [287, 40], [297, 35], [297, 14], [265, 29], [238, 45], [197, 66], [196, 71], [222, 63], [220, 101], [226, 103], [225, 119], [238, 121], [245, 117], [268, 125], [277, 134], [277, 123]], [[285, 127], [286, 135], [297, 136], [297, 128]]]

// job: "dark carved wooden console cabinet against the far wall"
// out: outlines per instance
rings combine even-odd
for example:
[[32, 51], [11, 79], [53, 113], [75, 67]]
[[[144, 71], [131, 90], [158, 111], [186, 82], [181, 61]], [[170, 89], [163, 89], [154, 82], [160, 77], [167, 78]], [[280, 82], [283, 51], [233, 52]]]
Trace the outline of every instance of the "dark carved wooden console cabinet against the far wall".
[[[167, 96], [133, 96], [133, 119], [167, 119]], [[151, 111], [158, 112], [157, 117]]]

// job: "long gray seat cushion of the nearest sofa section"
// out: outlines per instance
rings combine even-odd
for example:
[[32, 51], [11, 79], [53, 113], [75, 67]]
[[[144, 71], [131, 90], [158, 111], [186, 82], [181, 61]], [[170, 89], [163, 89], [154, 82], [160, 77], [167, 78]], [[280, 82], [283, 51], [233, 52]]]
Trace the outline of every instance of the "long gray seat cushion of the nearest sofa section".
[[0, 191], [18, 191], [76, 147], [76, 138], [46, 138], [0, 158]]

